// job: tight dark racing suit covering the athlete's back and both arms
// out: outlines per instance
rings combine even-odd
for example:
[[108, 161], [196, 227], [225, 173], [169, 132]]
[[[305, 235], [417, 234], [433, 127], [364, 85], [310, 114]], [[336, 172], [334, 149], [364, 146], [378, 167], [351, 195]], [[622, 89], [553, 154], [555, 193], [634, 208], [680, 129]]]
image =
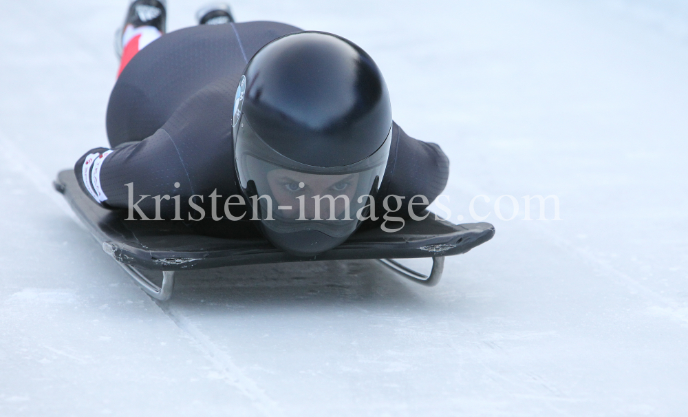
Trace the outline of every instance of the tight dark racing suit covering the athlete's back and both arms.
[[[275, 22], [200, 25], [165, 34], [138, 52], [110, 96], [107, 136], [114, 151], [98, 167], [100, 193], [84, 182], [94, 177], [83, 167], [89, 155], [102, 156], [108, 149], [87, 152], [74, 167], [83, 191], [106, 208], [127, 208], [125, 184], [133, 183], [134, 203], [141, 195], [181, 195], [181, 213], [189, 213], [191, 195], [206, 196], [199, 204], [207, 208], [207, 196], [215, 189], [224, 198], [241, 194], [232, 138], [239, 78], [266, 43], [300, 31]], [[376, 197], [378, 213], [386, 195], [403, 196], [407, 203], [421, 194], [432, 202], [449, 175], [449, 160], [438, 145], [409, 137], [396, 123], [392, 129], [389, 162]], [[164, 217], [171, 218], [174, 202], [160, 205]], [[138, 207], [155, 215], [153, 198]], [[221, 216], [222, 208], [218, 211]]]

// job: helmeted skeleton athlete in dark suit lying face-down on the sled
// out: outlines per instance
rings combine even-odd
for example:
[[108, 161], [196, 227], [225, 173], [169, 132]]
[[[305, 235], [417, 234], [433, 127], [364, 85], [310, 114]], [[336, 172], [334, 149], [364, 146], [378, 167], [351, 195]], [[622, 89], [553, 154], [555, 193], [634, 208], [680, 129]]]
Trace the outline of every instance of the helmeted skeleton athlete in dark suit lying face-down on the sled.
[[111, 149], [74, 167], [100, 206], [131, 220], [258, 220], [275, 246], [313, 256], [385, 211], [418, 220], [444, 189], [447, 156], [393, 122], [383, 76], [354, 43], [235, 23], [226, 5], [165, 34], [165, 6], [133, 1], [116, 35]]

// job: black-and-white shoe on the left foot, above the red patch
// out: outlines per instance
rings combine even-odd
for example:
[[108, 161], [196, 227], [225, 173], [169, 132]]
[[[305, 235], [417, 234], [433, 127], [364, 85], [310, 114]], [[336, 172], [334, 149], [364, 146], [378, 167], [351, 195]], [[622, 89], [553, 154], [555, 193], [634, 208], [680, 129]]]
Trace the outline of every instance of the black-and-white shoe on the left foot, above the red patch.
[[[134, 32], [145, 32], [146, 28], [155, 28], [159, 34], [166, 30], [166, 0], [131, 0], [125, 23], [115, 32], [115, 53], [122, 56], [122, 50]], [[143, 28], [142, 30], [136, 30]], [[135, 31], [136, 30], [136, 31]], [[125, 39], [127, 38], [127, 39]], [[141, 48], [142, 49], [142, 48]]]

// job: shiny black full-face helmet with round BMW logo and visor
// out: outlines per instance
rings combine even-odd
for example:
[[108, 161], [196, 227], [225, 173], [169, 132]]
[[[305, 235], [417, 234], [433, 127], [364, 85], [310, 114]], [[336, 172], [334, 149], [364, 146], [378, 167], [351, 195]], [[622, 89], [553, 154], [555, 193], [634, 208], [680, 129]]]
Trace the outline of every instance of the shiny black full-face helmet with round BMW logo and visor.
[[391, 105], [380, 69], [334, 34], [299, 32], [259, 50], [233, 115], [241, 188], [264, 235], [294, 255], [344, 242], [385, 173]]

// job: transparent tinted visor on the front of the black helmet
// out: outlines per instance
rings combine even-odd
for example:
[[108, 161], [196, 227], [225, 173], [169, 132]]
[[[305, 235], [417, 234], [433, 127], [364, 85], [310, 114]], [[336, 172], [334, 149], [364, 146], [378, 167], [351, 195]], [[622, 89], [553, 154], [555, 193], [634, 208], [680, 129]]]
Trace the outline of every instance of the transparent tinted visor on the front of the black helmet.
[[[242, 116], [235, 140], [237, 172], [248, 197], [257, 196], [263, 226], [277, 233], [319, 231], [346, 237], [367, 215], [368, 195], [380, 186], [391, 128], [371, 156], [345, 167], [313, 167], [277, 153]], [[254, 199], [249, 199], [251, 202]]]

